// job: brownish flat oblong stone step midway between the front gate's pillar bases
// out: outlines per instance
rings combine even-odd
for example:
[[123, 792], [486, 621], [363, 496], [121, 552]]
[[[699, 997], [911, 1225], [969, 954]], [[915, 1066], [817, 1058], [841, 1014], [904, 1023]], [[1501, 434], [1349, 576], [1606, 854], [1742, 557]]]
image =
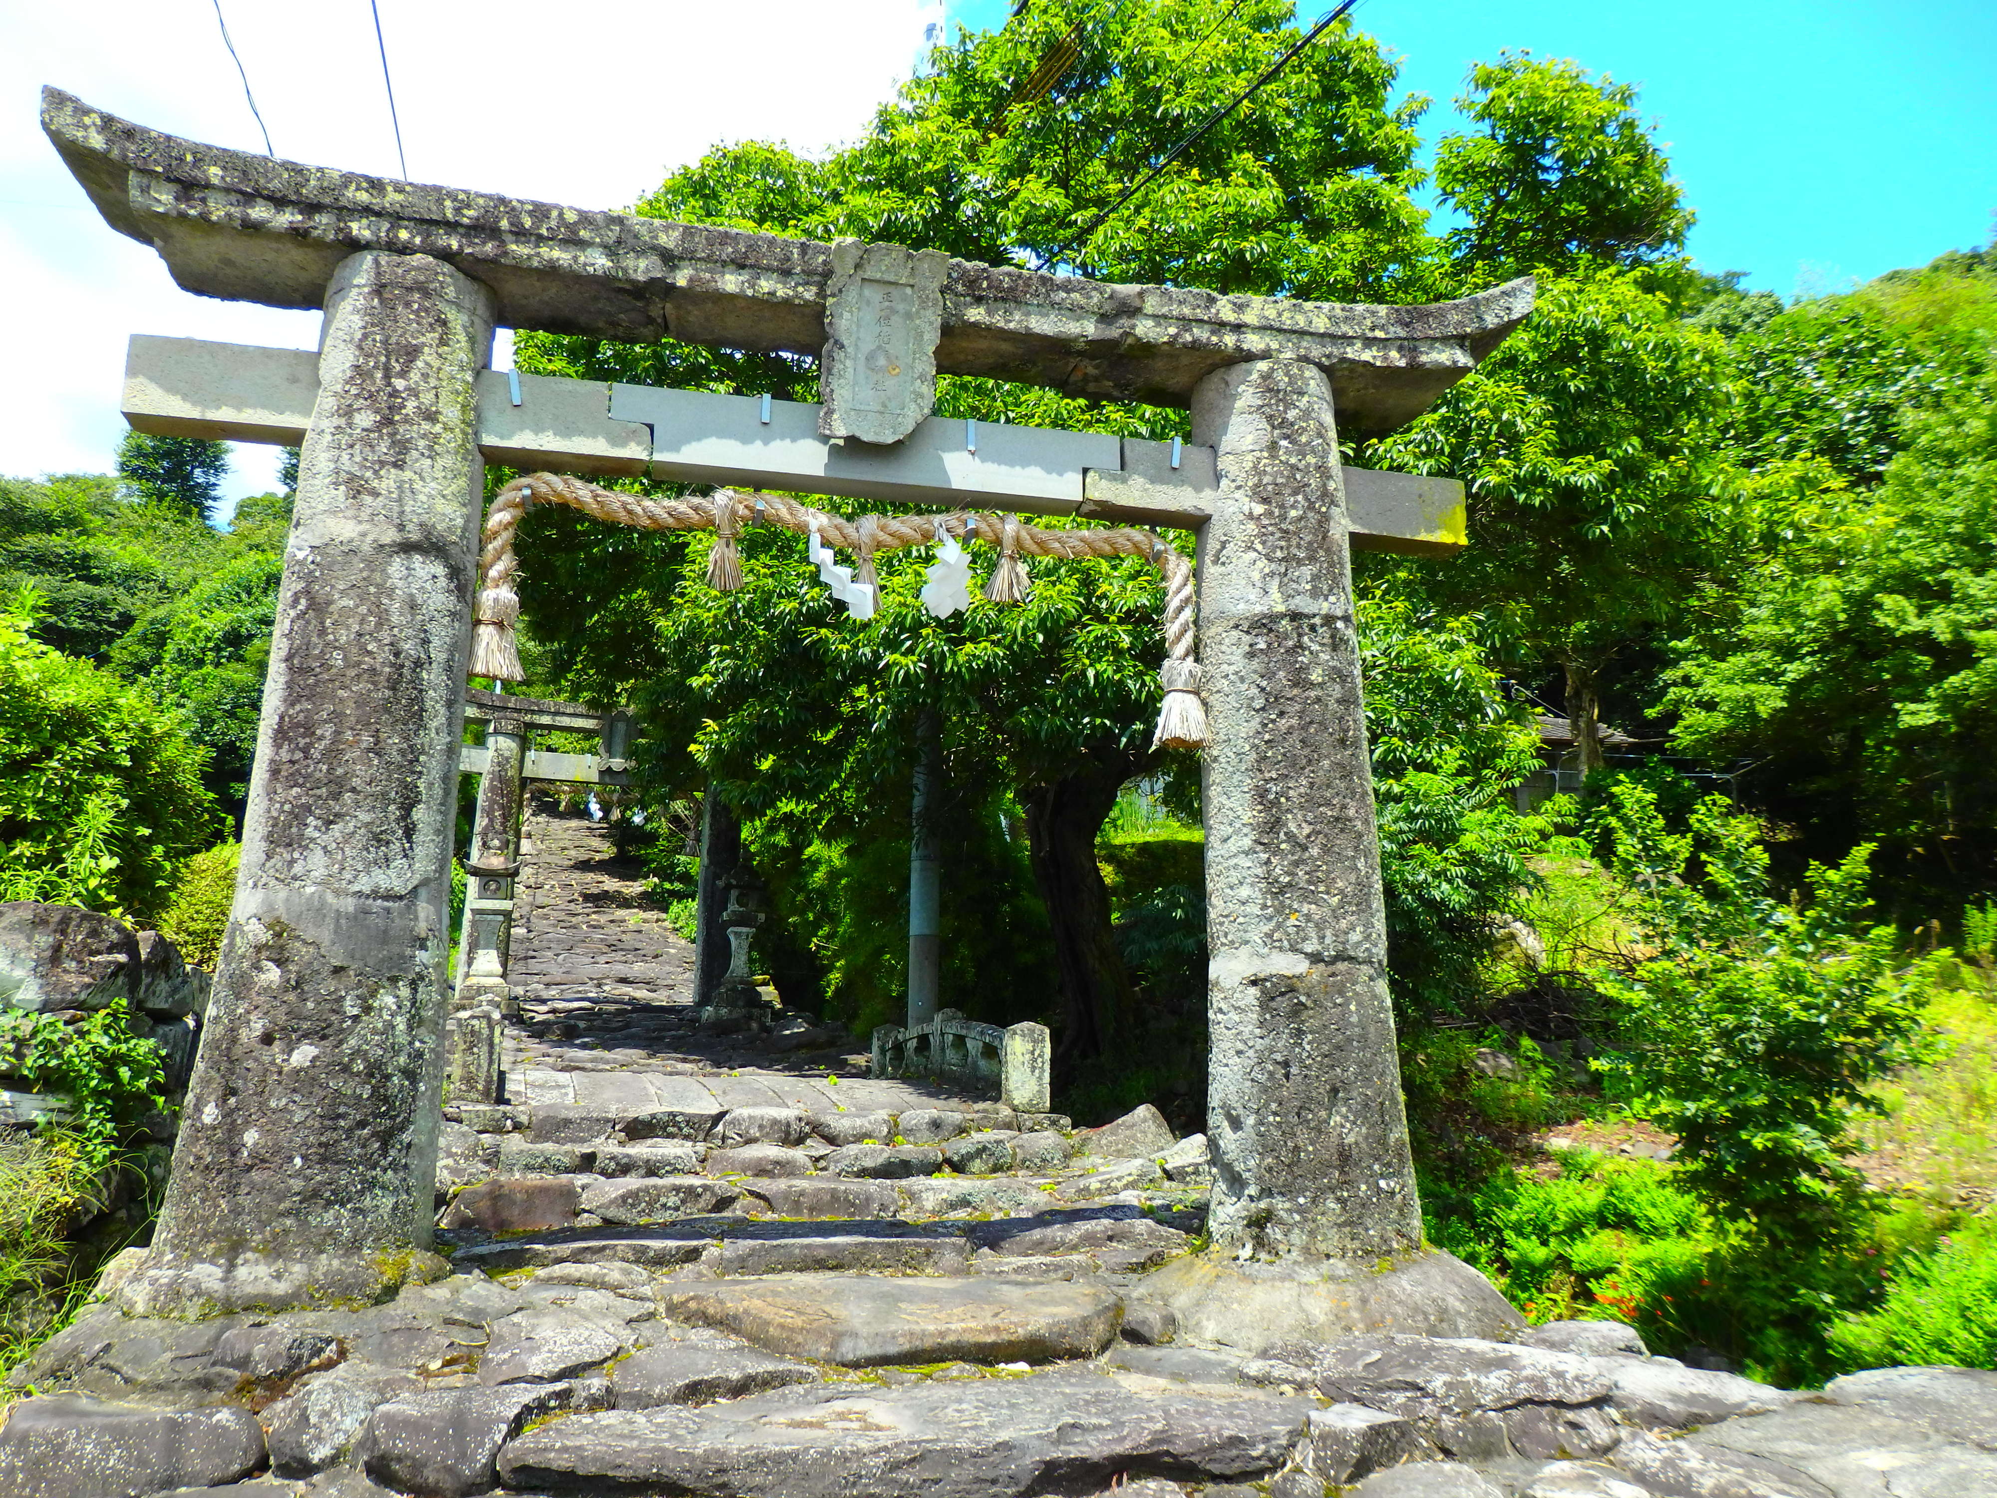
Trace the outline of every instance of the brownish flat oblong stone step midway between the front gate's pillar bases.
[[1110, 1290], [985, 1278], [771, 1276], [665, 1286], [659, 1304], [769, 1352], [851, 1368], [1092, 1358], [1122, 1324]]

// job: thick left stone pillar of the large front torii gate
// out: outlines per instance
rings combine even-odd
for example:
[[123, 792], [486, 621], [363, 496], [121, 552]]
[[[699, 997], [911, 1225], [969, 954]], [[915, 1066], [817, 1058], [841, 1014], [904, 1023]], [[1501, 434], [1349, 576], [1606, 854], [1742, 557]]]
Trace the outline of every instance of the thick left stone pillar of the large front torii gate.
[[236, 907], [134, 1312], [373, 1302], [429, 1254], [489, 292], [333, 274]]

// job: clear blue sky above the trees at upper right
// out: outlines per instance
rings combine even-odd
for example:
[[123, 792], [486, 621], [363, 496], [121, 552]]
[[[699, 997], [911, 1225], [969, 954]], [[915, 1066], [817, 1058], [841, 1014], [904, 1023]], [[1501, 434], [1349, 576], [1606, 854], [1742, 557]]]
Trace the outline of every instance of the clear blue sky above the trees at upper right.
[[[953, 34], [1008, 10], [947, 4]], [[1691, 254], [1747, 286], [1835, 292], [1993, 238], [1993, 0], [1362, 0], [1354, 24], [1402, 56], [1406, 92], [1436, 100], [1430, 140], [1470, 64], [1502, 48], [1638, 84], [1699, 216]]]

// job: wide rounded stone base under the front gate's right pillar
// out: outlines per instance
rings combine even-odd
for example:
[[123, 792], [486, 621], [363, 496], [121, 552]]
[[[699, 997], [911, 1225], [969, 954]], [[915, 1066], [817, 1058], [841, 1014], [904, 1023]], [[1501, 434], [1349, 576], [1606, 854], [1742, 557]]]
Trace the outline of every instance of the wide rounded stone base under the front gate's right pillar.
[[1378, 1266], [1188, 1254], [1144, 1280], [1144, 1296], [1178, 1314], [1180, 1336], [1244, 1352], [1360, 1332], [1508, 1342], [1526, 1330], [1498, 1286], [1440, 1250]]

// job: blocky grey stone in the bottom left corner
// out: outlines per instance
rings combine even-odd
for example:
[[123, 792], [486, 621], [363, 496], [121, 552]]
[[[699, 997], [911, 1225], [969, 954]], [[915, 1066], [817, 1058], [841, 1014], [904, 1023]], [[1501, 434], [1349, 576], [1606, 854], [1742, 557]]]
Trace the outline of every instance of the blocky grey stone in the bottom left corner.
[[0, 1498], [144, 1498], [236, 1482], [264, 1464], [250, 1410], [152, 1410], [44, 1394], [8, 1410]]

